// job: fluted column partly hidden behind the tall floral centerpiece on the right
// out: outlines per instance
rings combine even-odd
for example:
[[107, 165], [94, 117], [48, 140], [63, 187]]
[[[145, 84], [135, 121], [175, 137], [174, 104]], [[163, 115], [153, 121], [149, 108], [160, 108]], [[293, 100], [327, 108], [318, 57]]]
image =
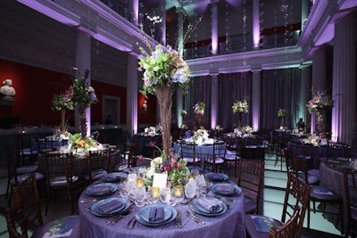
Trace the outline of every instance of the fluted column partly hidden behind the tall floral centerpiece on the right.
[[[326, 92], [327, 83], [327, 61], [326, 48], [320, 47], [312, 54], [312, 81], [311, 81], [311, 98], [319, 91]], [[327, 92], [326, 92], [327, 93]], [[316, 113], [311, 113], [311, 133], [316, 131]]]

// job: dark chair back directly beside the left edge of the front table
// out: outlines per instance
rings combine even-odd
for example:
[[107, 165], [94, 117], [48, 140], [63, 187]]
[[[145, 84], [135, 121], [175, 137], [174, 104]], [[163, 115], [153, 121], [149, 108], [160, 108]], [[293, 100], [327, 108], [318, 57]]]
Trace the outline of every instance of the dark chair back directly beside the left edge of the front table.
[[71, 202], [71, 215], [78, 211], [77, 200], [80, 194], [90, 185], [85, 175], [90, 174], [88, 159], [71, 160], [64, 165], [64, 173], [67, 180], [67, 193]]

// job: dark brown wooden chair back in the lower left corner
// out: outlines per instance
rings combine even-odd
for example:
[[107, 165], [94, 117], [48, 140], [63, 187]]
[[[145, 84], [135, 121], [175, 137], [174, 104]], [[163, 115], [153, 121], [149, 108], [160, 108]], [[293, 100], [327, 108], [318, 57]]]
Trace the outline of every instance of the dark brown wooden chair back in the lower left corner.
[[31, 174], [13, 188], [13, 198], [22, 234], [27, 234], [28, 230], [33, 227], [43, 226], [35, 174]]

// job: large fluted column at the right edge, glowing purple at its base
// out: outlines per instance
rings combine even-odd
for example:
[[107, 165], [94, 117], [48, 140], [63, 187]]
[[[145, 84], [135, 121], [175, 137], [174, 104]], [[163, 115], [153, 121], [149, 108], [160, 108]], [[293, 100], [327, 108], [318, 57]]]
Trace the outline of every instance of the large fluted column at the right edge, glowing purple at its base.
[[352, 144], [356, 129], [356, 15], [347, 14], [335, 23], [332, 95], [332, 135]]

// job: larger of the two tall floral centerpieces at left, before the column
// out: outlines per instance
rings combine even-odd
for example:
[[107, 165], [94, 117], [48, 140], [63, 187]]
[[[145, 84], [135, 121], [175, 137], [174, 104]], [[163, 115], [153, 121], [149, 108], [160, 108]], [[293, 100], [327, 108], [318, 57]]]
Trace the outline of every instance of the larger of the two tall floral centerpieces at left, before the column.
[[[77, 68], [74, 68], [74, 70], [77, 70]], [[65, 94], [65, 97], [71, 99], [71, 102], [79, 111], [80, 133], [83, 138], [87, 137], [86, 109], [97, 101], [95, 89], [89, 86], [88, 76], [89, 70], [86, 70], [84, 77], [76, 78]]]

